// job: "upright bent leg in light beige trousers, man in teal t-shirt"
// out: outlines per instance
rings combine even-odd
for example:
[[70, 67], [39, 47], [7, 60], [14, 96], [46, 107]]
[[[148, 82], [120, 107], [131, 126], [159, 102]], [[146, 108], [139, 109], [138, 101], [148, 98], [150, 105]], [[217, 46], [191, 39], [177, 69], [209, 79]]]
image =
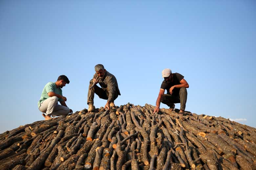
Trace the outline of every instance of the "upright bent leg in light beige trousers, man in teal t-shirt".
[[41, 106], [39, 107], [39, 110], [43, 113], [46, 113], [46, 115], [52, 114], [56, 104], [58, 103], [58, 97], [53, 96], [50, 97], [41, 103]]

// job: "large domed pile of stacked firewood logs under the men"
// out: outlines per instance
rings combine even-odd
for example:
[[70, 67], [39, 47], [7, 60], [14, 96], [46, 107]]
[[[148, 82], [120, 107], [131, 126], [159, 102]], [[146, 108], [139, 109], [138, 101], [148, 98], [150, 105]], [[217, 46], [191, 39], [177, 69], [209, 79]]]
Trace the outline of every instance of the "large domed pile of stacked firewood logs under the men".
[[[0, 170], [256, 169], [256, 129], [130, 103], [0, 134]], [[176, 110], [177, 111], [177, 110]]]

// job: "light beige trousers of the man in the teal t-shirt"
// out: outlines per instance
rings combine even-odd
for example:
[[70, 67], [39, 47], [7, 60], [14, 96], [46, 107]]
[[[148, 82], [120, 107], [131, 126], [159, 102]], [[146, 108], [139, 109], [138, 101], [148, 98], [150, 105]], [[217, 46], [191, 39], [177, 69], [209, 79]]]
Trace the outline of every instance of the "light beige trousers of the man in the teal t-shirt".
[[39, 110], [43, 113], [46, 113], [46, 115], [52, 115], [52, 116], [66, 115], [70, 112], [68, 107], [58, 105], [57, 103], [58, 103], [58, 97], [56, 96], [50, 97], [44, 100], [43, 103], [41, 103]]

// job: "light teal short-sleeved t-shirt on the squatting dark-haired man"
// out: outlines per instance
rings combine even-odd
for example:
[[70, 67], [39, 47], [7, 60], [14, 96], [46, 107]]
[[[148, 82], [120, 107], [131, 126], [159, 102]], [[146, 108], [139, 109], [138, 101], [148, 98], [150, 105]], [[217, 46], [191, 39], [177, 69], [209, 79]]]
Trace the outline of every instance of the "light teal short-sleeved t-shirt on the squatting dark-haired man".
[[[49, 82], [47, 83], [45, 86], [44, 86], [44, 89], [43, 89], [43, 92], [41, 94], [41, 97], [40, 97], [40, 100], [38, 101], [37, 105], [38, 105], [38, 108], [41, 106], [41, 103], [50, 98], [50, 96], [48, 95], [49, 92], [54, 92], [56, 94], [59, 94], [59, 95], [62, 95], [62, 90], [61, 88], [57, 88], [55, 83], [53, 82]], [[64, 101], [62, 98], [58, 98], [58, 101], [59, 102], [62, 102]]]

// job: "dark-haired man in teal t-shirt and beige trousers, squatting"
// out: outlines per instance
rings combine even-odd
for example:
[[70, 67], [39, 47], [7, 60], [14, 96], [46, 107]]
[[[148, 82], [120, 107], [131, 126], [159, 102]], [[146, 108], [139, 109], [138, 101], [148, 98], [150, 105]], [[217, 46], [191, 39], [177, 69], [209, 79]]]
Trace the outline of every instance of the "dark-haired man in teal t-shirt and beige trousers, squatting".
[[[73, 113], [73, 110], [69, 109], [65, 103], [67, 98], [62, 95], [62, 88], [69, 84], [69, 79], [65, 75], [58, 77], [55, 83], [49, 82], [44, 86], [40, 100], [37, 105], [45, 120], [51, 119], [52, 116], [61, 116], [69, 113]], [[61, 105], [58, 105], [58, 101]]]

